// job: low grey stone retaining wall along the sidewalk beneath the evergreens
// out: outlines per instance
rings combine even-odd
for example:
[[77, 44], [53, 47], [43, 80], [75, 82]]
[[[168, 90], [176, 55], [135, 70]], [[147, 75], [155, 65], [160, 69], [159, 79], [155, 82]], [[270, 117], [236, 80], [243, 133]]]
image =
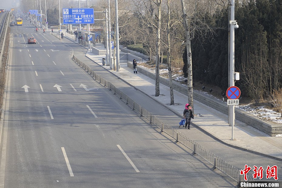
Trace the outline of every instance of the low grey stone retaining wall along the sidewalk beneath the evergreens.
[[[133, 68], [131, 62], [127, 62], [127, 66]], [[137, 66], [137, 71], [148, 76], [151, 79], [155, 79], [155, 72], [148, 69]], [[159, 77], [160, 83], [169, 86], [169, 79], [162, 76]], [[183, 94], [187, 94], [187, 86], [184, 86], [178, 82], [173, 81], [173, 89]], [[193, 90], [193, 98], [203, 104], [212, 107], [224, 114], [228, 114], [227, 104], [223, 101], [217, 100], [211, 96], [205, 95], [199, 91]], [[245, 112], [241, 109], [235, 108], [235, 117], [237, 120], [250, 125], [261, 132], [264, 132], [270, 136], [275, 136], [277, 134], [282, 134], [282, 124], [269, 122], [263, 119], [259, 119], [257, 116], [254, 116], [248, 112]]]

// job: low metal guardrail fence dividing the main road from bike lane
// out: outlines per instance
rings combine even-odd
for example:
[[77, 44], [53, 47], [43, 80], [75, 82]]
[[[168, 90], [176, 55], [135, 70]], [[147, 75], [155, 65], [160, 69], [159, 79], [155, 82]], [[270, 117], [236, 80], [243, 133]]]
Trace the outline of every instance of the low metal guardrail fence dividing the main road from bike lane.
[[[72, 59], [82, 68], [87, 70], [93, 77], [95, 77], [96, 80], [98, 80], [100, 83], [104, 84], [104, 86], [107, 86], [110, 90], [114, 92], [117, 96], [119, 96], [120, 99], [123, 99], [126, 104], [129, 104], [132, 107], [132, 110], [136, 110], [139, 112], [140, 116], [145, 117], [148, 119], [151, 124], [154, 124], [159, 129], [161, 129], [160, 133], [164, 132], [171, 136], [172, 138], [176, 139], [175, 143], [181, 143], [187, 148], [191, 149], [193, 153], [191, 155], [197, 154], [198, 156], [205, 159], [208, 163], [213, 165], [211, 170], [220, 170], [221, 172], [225, 173], [227, 176], [231, 177], [233, 180], [237, 182], [243, 182], [245, 181], [243, 178], [243, 175], [240, 174], [240, 170], [235, 168], [234, 166], [230, 165], [223, 159], [221, 159], [218, 156], [215, 156], [212, 152], [205, 149], [200, 144], [196, 143], [192, 139], [188, 138], [186, 135], [181, 133], [180, 131], [174, 129], [172, 126], [167, 125], [166, 123], [162, 122], [159, 118], [154, 116], [151, 112], [144, 109], [142, 106], [140, 106], [138, 103], [136, 103], [133, 99], [131, 99], [129, 96], [127, 96], [125, 93], [117, 89], [112, 83], [108, 82], [96, 72], [94, 72], [92, 69], [90, 69], [86, 64], [84, 64], [82, 61], [77, 59], [74, 55], [72, 55]], [[248, 182], [253, 182], [254, 180], [250, 178], [250, 176], [247, 176]]]

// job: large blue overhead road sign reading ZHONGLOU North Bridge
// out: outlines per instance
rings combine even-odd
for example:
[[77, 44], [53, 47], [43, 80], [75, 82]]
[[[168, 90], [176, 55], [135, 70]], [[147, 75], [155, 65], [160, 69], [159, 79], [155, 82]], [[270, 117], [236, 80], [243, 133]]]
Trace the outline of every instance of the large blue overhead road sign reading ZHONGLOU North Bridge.
[[93, 24], [93, 8], [63, 8], [64, 24]]

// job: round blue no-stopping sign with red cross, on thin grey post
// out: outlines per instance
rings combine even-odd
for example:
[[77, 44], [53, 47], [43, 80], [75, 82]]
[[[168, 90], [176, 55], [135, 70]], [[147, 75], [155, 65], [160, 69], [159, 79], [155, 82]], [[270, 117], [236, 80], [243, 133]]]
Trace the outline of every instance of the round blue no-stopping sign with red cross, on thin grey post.
[[232, 114], [232, 118], [230, 118], [228, 116], [229, 122], [233, 122], [231, 123], [232, 126], [232, 135], [231, 135], [231, 140], [233, 140], [233, 130], [234, 130], [234, 122], [235, 122], [235, 111], [234, 111], [234, 105], [238, 105], [239, 104], [239, 97], [241, 95], [241, 91], [238, 87], [236, 86], [230, 86], [227, 91], [226, 91], [226, 96], [227, 96], [227, 105], [228, 106], [232, 106], [233, 109], [233, 114]]

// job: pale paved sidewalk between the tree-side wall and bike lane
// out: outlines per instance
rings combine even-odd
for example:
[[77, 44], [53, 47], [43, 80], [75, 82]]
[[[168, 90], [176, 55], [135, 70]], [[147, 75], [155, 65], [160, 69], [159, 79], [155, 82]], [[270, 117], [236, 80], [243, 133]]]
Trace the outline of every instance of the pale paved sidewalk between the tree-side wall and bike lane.
[[[95, 47], [97, 49], [104, 49], [104, 45], [100, 43], [97, 43]], [[133, 69], [127, 67], [127, 63], [120, 63], [120, 71], [116, 72], [111, 70], [109, 66], [102, 65], [102, 58], [104, 58], [105, 55], [95, 55], [88, 50], [86, 57], [170, 109], [179, 115], [180, 118], [183, 117], [184, 105], [187, 103], [186, 95], [174, 90], [174, 103], [182, 105], [169, 106], [169, 104], [167, 104], [170, 103], [169, 87], [160, 83], [160, 92], [163, 95], [154, 97], [155, 80], [140, 73], [134, 74]], [[192, 119], [191, 125], [198, 127], [214, 139], [234, 148], [243, 149], [282, 161], [282, 137], [271, 137], [245, 123], [235, 120], [233, 129], [234, 136], [233, 140], [231, 140], [232, 127], [228, 125], [227, 115], [196, 100], [194, 100], [194, 112], [195, 118]], [[177, 129], [179, 126], [174, 128]], [[185, 134], [184, 130], [181, 132]]]

